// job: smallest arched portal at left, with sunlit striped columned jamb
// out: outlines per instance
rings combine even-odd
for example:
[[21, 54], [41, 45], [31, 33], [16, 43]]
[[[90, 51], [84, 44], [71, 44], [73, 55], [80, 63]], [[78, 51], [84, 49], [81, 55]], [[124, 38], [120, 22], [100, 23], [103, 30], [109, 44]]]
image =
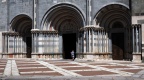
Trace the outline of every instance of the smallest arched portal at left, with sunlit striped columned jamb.
[[8, 47], [5, 48], [4, 52], [15, 58], [31, 58], [32, 19], [21, 14], [13, 18], [10, 25], [10, 31], [5, 35], [5, 44]]

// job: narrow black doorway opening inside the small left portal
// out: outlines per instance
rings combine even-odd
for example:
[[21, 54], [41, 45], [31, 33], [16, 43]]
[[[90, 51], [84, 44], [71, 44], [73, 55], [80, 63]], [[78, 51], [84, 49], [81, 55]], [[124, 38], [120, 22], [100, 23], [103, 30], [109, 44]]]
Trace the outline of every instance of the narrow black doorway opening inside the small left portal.
[[31, 52], [32, 52], [32, 38], [26, 37], [26, 45], [27, 45], [27, 58], [31, 58]]

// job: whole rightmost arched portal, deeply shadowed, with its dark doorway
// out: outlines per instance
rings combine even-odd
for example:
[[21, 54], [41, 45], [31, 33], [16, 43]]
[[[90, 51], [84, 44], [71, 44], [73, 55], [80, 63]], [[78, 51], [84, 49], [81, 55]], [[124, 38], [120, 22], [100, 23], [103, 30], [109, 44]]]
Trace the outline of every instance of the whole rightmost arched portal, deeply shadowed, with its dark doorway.
[[120, 4], [110, 4], [96, 14], [96, 26], [108, 33], [109, 52], [113, 60], [131, 59], [131, 16], [130, 10]]

